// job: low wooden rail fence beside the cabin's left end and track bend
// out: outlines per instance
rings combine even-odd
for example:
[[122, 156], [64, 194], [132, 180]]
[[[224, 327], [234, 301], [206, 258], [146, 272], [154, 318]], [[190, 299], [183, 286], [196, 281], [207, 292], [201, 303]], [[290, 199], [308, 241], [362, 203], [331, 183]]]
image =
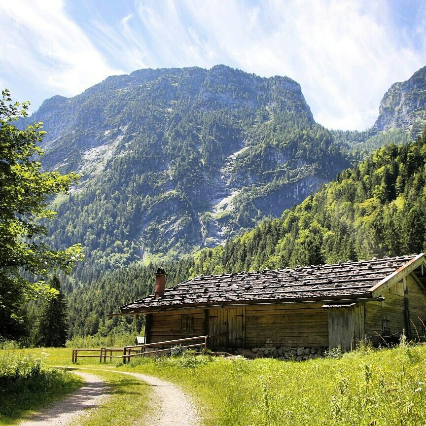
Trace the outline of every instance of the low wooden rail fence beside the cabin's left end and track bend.
[[[101, 349], [73, 349], [72, 362], [76, 363], [78, 358], [99, 358], [99, 362], [106, 362], [106, 358], [112, 361], [112, 358], [121, 358], [123, 364], [130, 362], [130, 358], [134, 356], [151, 356], [157, 354], [167, 354], [172, 351], [172, 348], [182, 343], [188, 343], [181, 346], [182, 349], [191, 348], [204, 348], [204, 353], [207, 352], [207, 338], [208, 336], [189, 337], [187, 339], [167, 340], [164, 342], [147, 343], [144, 345], [125, 346], [124, 348], [101, 348]], [[193, 343], [202, 341], [201, 343]], [[165, 348], [169, 346], [169, 348]], [[158, 349], [160, 348], [160, 349]], [[80, 355], [80, 353], [89, 352], [90, 354], [97, 353], [96, 355]], [[119, 352], [121, 355], [112, 355]]]

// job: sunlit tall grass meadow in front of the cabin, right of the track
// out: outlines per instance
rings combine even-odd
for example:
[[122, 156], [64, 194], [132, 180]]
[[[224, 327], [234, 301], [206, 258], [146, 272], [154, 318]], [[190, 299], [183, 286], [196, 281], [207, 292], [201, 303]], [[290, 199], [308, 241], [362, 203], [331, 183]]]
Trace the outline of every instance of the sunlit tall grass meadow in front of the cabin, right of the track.
[[363, 347], [306, 362], [195, 359], [120, 368], [181, 384], [212, 426], [426, 425], [426, 346]]

